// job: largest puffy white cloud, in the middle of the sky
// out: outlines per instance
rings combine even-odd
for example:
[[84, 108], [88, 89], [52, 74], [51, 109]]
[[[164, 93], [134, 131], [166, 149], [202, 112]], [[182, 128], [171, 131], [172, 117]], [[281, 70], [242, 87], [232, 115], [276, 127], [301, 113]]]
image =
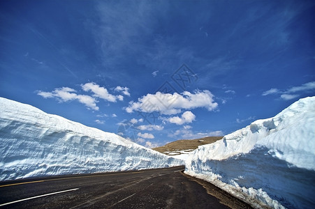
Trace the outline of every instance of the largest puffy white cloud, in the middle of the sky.
[[214, 95], [210, 91], [195, 91], [190, 93], [161, 93], [147, 94], [138, 98], [138, 102], [129, 102], [129, 107], [126, 107], [128, 113], [133, 111], [153, 112], [159, 111], [161, 114], [171, 115], [178, 114], [182, 109], [195, 109], [205, 107], [208, 111], [217, 108], [217, 102], [213, 100]]

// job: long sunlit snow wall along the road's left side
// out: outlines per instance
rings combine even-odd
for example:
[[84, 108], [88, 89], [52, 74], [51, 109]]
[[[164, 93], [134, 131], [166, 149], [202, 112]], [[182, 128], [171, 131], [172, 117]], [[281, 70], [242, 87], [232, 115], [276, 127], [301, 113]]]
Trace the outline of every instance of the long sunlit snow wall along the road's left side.
[[116, 134], [0, 98], [0, 180], [182, 164]]

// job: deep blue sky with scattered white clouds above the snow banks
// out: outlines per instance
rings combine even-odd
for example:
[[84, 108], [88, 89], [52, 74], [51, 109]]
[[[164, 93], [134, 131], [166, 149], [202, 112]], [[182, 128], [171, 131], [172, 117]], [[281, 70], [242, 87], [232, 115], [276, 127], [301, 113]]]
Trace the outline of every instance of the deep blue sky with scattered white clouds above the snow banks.
[[314, 1], [1, 1], [0, 96], [147, 147], [315, 95]]

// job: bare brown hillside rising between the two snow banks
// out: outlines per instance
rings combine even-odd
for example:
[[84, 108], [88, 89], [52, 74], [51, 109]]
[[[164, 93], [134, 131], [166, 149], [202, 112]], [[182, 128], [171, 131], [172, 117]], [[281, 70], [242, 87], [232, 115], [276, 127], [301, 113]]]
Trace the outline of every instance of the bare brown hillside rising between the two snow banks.
[[214, 141], [218, 141], [223, 137], [205, 137], [200, 139], [182, 139], [178, 141], [170, 142], [164, 146], [160, 146], [157, 148], [152, 148], [160, 153], [172, 152], [177, 150], [194, 150], [198, 148], [200, 145], [211, 144]]

